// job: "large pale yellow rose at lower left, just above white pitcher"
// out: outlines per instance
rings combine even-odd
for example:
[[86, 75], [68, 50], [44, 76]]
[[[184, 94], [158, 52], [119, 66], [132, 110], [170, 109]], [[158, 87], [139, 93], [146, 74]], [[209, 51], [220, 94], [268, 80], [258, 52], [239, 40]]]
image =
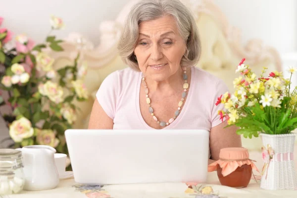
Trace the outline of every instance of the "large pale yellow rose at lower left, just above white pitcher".
[[12, 122], [9, 126], [9, 135], [15, 142], [21, 142], [24, 138], [29, 138], [34, 134], [31, 122], [22, 117]]

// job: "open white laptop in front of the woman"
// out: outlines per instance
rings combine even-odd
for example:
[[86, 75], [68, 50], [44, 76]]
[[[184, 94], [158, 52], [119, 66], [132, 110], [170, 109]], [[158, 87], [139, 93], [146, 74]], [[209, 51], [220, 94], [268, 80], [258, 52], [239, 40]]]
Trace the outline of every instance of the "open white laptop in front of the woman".
[[206, 182], [205, 130], [67, 130], [77, 183]]

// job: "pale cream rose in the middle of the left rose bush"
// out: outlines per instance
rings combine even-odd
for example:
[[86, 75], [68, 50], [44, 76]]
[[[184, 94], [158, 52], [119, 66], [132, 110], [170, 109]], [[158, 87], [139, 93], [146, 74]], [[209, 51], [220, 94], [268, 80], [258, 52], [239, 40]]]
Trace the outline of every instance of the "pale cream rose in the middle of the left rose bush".
[[38, 91], [42, 95], [48, 96], [49, 99], [56, 104], [63, 101], [63, 88], [57, 83], [47, 81], [45, 84], [40, 84], [38, 86]]

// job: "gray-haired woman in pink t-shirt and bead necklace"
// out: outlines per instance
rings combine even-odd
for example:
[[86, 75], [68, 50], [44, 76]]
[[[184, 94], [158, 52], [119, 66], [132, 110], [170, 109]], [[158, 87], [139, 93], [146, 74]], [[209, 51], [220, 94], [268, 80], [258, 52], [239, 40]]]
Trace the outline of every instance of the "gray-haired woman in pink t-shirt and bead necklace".
[[142, 0], [134, 5], [118, 50], [130, 67], [102, 82], [89, 129], [203, 129], [210, 132], [213, 160], [221, 148], [241, 146], [236, 128], [225, 128], [218, 116], [223, 107], [215, 105], [227, 86], [195, 67], [198, 30], [179, 0]]

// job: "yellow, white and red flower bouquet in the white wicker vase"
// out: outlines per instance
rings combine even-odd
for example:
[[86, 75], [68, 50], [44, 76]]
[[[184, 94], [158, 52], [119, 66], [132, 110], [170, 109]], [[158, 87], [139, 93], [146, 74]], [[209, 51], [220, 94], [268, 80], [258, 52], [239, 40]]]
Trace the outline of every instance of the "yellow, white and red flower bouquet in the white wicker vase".
[[297, 87], [291, 90], [291, 78], [297, 68], [289, 67], [290, 79], [285, 79], [282, 72], [270, 72], [264, 77], [252, 72], [244, 64], [239, 64], [236, 72], [240, 76], [233, 81], [235, 92], [221, 95], [216, 105], [224, 104], [225, 110], [218, 114], [228, 126], [236, 125], [241, 129], [237, 134], [244, 137], [257, 137], [259, 132], [267, 134], [290, 133], [297, 128]]

